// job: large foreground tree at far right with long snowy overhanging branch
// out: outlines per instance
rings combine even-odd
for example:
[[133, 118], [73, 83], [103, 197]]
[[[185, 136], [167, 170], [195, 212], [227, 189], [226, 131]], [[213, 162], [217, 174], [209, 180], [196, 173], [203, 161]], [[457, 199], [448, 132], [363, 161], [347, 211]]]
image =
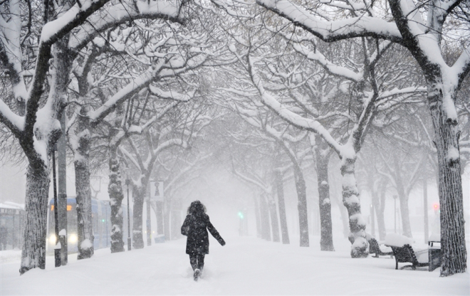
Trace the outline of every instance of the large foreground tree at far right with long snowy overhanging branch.
[[[460, 175], [461, 132], [455, 103], [464, 78], [470, 72], [468, 2], [389, 0], [390, 6], [375, 1], [314, 1], [305, 6], [287, 0], [256, 2], [323, 41], [373, 36], [399, 43], [412, 54], [426, 79], [429, 112], [436, 135], [443, 251], [441, 275], [464, 273], [466, 246]], [[315, 10], [310, 9], [313, 6]], [[459, 23], [459, 26], [447, 26], [449, 21]], [[452, 30], [457, 32], [456, 36], [461, 41], [461, 54], [449, 65], [442, 55], [442, 40]]]

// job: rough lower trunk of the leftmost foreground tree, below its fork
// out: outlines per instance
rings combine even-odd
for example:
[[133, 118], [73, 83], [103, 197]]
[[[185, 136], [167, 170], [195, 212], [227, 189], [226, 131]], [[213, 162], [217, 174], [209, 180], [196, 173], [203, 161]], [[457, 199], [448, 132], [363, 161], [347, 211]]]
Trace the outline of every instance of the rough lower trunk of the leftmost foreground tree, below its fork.
[[23, 249], [20, 275], [32, 268], [46, 268], [48, 194], [51, 179], [46, 165], [32, 162], [26, 174], [26, 217], [23, 221]]

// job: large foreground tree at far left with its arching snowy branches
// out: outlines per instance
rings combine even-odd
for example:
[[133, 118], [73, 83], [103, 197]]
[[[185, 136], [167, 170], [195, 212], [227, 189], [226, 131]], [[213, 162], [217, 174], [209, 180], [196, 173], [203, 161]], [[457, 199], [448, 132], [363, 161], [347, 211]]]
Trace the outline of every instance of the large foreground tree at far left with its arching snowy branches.
[[[41, 9], [37, 9], [39, 6]], [[0, 121], [15, 135], [28, 158], [21, 274], [31, 268], [44, 268], [45, 265], [50, 183], [48, 152], [61, 135], [58, 118], [66, 105], [73, 61], [69, 42], [78, 40], [86, 43], [101, 29], [117, 20], [125, 21], [123, 15], [126, 18], [148, 16], [182, 21], [182, 3], [178, 1], [113, 3], [85, 0], [43, 1], [41, 4], [35, 1], [34, 7], [42, 12], [41, 19], [28, 18], [33, 13], [33, 6], [28, 7], [19, 0], [4, 1], [0, 10], [0, 59], [9, 70], [16, 105], [14, 107], [1, 100]], [[125, 14], [122, 14], [124, 11]], [[28, 19], [33, 19], [35, 23], [24, 21]], [[32, 31], [31, 28], [36, 30]], [[71, 33], [77, 38], [71, 38]], [[32, 41], [23, 42], [29, 38]], [[28, 50], [29, 43], [36, 50]], [[23, 60], [33, 60], [33, 63], [23, 63]], [[30, 80], [25, 78], [26, 72], [33, 74]], [[47, 81], [48, 75], [50, 81]]]

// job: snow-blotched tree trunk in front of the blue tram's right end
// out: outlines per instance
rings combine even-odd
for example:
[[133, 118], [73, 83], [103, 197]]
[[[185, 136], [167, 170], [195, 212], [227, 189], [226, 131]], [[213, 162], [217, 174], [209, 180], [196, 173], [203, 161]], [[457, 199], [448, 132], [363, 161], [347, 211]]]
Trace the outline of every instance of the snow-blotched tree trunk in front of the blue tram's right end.
[[[124, 240], [122, 240], [122, 181], [120, 174], [120, 163], [117, 159], [117, 146], [110, 145], [110, 183], [108, 184], [108, 194], [111, 206], [111, 253], [124, 252]], [[129, 205], [127, 205], [129, 206]]]

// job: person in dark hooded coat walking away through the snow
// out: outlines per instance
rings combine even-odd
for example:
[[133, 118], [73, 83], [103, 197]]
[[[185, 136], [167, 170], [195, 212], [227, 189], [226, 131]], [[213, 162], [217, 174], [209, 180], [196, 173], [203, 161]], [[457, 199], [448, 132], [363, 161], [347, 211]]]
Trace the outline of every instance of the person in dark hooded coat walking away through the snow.
[[225, 240], [221, 238], [219, 232], [209, 221], [206, 207], [201, 201], [193, 201], [188, 208], [183, 226], [181, 226], [181, 233], [188, 237], [186, 253], [189, 255], [189, 263], [194, 271], [194, 280], [198, 280], [201, 276], [204, 268], [204, 256], [209, 254], [208, 230], [221, 245], [225, 245]]

